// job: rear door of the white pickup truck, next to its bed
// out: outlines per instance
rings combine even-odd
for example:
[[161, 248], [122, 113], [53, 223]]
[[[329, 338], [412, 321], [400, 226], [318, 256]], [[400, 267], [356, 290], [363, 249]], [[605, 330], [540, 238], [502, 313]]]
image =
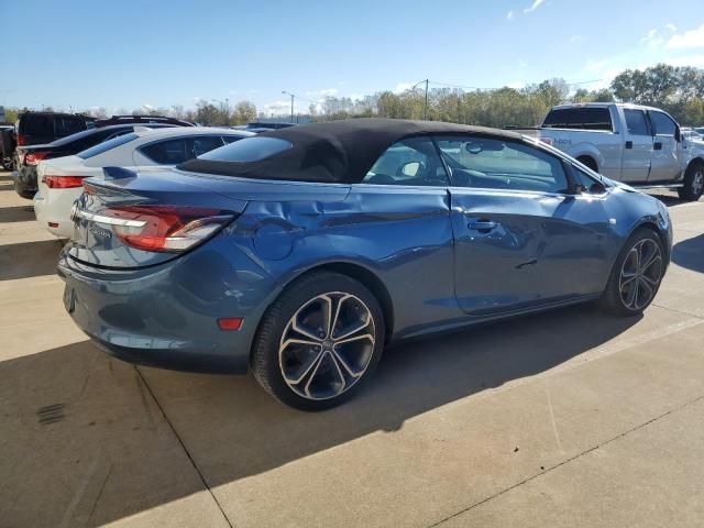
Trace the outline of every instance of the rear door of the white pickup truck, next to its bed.
[[624, 109], [624, 152], [620, 182], [647, 182], [652, 158], [652, 133], [646, 112]]

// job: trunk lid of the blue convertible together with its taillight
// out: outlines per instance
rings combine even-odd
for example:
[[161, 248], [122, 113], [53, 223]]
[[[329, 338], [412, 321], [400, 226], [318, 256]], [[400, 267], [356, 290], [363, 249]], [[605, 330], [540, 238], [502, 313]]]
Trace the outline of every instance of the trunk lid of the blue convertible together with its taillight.
[[[102, 177], [87, 179], [84, 186], [85, 191], [72, 213], [74, 235], [68, 254], [98, 267], [136, 268], [176, 258], [213, 235], [246, 206], [245, 200], [223, 196], [185, 178], [174, 178], [168, 172], [136, 174], [123, 168], [106, 168]], [[219, 223], [216, 226], [216, 220], [209, 219], [218, 219]], [[163, 230], [164, 222], [185, 229], [187, 234], [200, 235], [208, 230], [210, 234], [204, 234], [206, 239], [186, 249], [152, 250], [153, 235]], [[175, 244], [187, 239], [176, 233], [173, 237]]]

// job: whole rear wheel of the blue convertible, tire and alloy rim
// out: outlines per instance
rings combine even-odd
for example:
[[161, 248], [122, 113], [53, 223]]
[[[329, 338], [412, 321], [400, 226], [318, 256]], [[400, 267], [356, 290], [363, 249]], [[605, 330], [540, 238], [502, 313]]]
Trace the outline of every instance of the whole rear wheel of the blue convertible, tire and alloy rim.
[[322, 410], [348, 400], [382, 355], [384, 319], [361, 283], [312, 273], [288, 286], [257, 332], [253, 370], [282, 403]]

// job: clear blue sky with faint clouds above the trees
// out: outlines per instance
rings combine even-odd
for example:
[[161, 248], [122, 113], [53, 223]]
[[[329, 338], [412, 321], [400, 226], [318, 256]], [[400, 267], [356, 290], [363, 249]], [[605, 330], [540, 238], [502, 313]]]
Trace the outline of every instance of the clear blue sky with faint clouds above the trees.
[[704, 68], [704, 0], [0, 0], [0, 105], [78, 110], [198, 100], [296, 111], [326, 95], [595, 89], [659, 62]]

